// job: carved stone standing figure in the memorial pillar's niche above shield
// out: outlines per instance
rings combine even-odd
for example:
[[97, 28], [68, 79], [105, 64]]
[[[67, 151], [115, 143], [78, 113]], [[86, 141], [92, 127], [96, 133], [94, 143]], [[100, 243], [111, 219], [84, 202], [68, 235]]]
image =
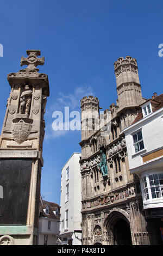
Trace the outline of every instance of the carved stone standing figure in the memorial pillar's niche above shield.
[[25, 114], [29, 114], [32, 90], [30, 90], [28, 84], [24, 87], [24, 92], [20, 96], [20, 108], [19, 113], [23, 114], [25, 108]]

